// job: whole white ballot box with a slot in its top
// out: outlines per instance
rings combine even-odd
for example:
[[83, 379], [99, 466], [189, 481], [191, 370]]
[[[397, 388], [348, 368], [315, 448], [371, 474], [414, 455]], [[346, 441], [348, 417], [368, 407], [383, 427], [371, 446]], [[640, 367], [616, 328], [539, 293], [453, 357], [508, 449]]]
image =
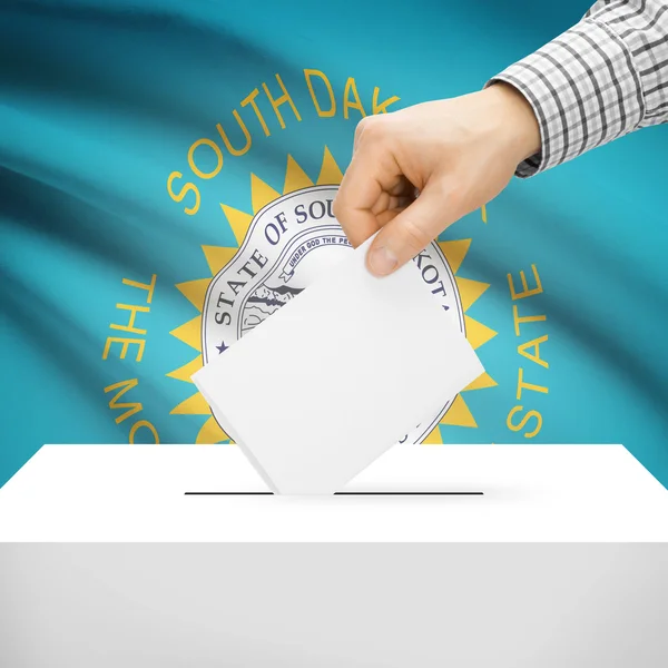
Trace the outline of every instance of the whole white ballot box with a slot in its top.
[[668, 492], [621, 445], [410, 445], [279, 497], [235, 446], [47, 445], [0, 490], [0, 666], [668, 660]]

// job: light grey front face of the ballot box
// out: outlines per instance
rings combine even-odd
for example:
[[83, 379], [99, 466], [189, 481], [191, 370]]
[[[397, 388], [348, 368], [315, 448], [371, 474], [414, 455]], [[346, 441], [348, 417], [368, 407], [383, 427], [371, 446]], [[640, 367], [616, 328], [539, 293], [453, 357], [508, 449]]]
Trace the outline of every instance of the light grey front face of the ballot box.
[[0, 544], [11, 668], [666, 665], [668, 544]]

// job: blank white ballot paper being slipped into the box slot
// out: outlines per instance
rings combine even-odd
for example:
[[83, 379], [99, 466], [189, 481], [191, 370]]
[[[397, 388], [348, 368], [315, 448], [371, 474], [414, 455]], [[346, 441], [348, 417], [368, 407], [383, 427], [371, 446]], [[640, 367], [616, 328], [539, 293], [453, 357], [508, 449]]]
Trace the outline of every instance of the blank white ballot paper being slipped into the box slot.
[[334, 493], [484, 371], [414, 263], [376, 278], [370, 244], [193, 376], [274, 492]]

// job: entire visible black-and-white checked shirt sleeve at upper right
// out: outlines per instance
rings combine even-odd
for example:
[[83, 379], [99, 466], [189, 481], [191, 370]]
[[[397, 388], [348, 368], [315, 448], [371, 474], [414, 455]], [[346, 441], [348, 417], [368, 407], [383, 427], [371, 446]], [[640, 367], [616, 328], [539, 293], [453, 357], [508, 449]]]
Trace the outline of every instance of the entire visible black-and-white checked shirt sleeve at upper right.
[[668, 0], [599, 0], [570, 30], [488, 81], [538, 118], [527, 178], [642, 127], [668, 121]]

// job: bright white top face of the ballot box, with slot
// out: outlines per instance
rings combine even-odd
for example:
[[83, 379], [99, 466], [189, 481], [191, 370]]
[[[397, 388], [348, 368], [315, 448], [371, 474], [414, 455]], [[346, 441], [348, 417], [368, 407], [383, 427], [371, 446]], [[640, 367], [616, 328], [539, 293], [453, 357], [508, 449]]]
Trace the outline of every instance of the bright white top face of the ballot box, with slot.
[[236, 446], [46, 445], [0, 541], [668, 542], [668, 491], [621, 445], [396, 446], [342, 491], [268, 494]]

